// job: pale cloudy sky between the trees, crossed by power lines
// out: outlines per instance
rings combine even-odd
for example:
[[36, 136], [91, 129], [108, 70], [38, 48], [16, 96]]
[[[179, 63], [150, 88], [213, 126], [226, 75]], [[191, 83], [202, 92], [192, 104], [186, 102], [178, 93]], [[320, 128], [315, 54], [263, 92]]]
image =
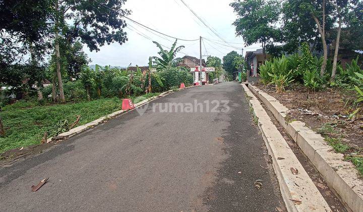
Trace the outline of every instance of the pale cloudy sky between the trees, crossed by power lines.
[[[210, 27], [226, 41], [233, 43], [243, 43], [241, 37], [235, 37], [235, 28], [232, 26], [236, 16], [229, 3], [233, 0], [184, 0], [184, 2], [194, 10]], [[129, 18], [138, 21], [150, 28], [165, 33], [167, 35], [182, 39], [194, 40], [199, 36], [204, 39], [202, 43], [202, 54], [212, 55], [222, 58], [231, 50], [241, 53], [243, 44], [226, 44], [211, 32], [203, 23], [195, 17], [192, 12], [180, 0], [128, 0], [126, 9], [132, 10]], [[147, 65], [150, 56], [156, 56], [158, 48], [151, 40], [141, 36], [146, 35], [165, 46], [171, 46], [174, 42], [172, 38], [163, 35], [157, 36], [144, 28], [130, 21], [125, 30], [128, 33], [128, 41], [123, 45], [112, 43], [102, 46], [98, 52], [90, 52], [87, 47], [85, 52], [91, 58], [91, 64], [112, 65], [112, 66], [132, 66]], [[138, 33], [139, 34], [138, 34]], [[157, 33], [156, 33], [157, 34]], [[177, 57], [185, 54], [199, 58], [199, 40], [181, 41], [178, 45], [185, 45]], [[228, 45], [232, 45], [228, 46]], [[236, 48], [234, 48], [236, 47]], [[248, 46], [246, 50], [259, 48], [259, 44]], [[206, 57], [205, 57], [206, 58]]]

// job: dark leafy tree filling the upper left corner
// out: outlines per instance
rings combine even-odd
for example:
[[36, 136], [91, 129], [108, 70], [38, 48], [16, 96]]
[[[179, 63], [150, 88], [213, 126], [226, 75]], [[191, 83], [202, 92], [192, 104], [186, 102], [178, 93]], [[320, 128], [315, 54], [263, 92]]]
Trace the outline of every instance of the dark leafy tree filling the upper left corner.
[[[30, 88], [42, 77], [41, 61], [48, 46], [48, 0], [9, 0], [0, 3], [1, 82], [13, 88]], [[31, 54], [30, 60], [24, 56]], [[24, 62], [25, 61], [25, 62]], [[36, 61], [36, 63], [34, 62]]]

